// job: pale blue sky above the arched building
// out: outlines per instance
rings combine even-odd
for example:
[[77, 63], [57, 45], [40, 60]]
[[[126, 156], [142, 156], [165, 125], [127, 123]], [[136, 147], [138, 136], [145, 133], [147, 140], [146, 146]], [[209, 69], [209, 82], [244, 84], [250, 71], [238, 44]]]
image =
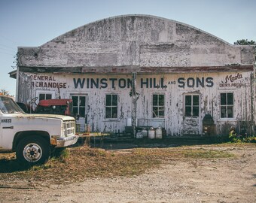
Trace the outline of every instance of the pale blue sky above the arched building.
[[17, 47], [39, 47], [72, 29], [127, 14], [186, 23], [230, 44], [256, 41], [256, 0], [0, 0], [0, 89], [16, 94]]

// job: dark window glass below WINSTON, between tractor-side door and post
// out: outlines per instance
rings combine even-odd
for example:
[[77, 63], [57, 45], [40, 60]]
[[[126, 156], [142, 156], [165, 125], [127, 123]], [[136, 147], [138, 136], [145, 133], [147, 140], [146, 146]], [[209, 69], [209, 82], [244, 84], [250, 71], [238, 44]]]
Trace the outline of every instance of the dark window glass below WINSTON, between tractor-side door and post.
[[111, 94], [105, 97], [105, 117], [117, 118], [117, 95]]

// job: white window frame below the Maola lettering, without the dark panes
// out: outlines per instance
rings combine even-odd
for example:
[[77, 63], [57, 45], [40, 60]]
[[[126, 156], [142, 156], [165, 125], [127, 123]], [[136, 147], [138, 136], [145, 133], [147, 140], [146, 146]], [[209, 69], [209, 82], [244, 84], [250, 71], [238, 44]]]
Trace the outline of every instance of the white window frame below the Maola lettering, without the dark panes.
[[[221, 94], [225, 94], [225, 103], [226, 104], [221, 104]], [[232, 105], [230, 105], [230, 104], [228, 104], [229, 102], [228, 102], [228, 96], [227, 96], [227, 94], [232, 94]], [[235, 96], [234, 96], [234, 92], [220, 92], [220, 94], [219, 94], [219, 104], [220, 104], [220, 119], [221, 120], [233, 120], [234, 119], [234, 114], [235, 114], [235, 109], [234, 109], [234, 103], [235, 103], [235, 101], [234, 101], [234, 98], [235, 98]], [[221, 109], [222, 108], [225, 108], [225, 117], [222, 117], [222, 112], [221, 112]], [[230, 107], [232, 107], [232, 117], [228, 117], [228, 108], [230, 108]]]

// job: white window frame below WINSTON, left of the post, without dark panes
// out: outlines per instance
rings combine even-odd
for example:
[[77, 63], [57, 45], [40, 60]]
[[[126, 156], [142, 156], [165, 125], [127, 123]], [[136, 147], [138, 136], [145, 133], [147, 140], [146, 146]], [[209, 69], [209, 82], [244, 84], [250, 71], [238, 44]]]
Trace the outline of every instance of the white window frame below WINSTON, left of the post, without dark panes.
[[[109, 102], [107, 101], [108, 96], [111, 95], [111, 102], [110, 105]], [[117, 100], [115, 101], [115, 104], [113, 102], [113, 95], [115, 95], [117, 98]], [[118, 103], [119, 103], [119, 95], [117, 93], [106, 93], [105, 94], [105, 119], [106, 120], [117, 120], [118, 119]], [[110, 109], [110, 117], [108, 117], [108, 110]], [[116, 109], [115, 112], [113, 111], [113, 109]], [[114, 114], [116, 114], [116, 116], [114, 117]]]

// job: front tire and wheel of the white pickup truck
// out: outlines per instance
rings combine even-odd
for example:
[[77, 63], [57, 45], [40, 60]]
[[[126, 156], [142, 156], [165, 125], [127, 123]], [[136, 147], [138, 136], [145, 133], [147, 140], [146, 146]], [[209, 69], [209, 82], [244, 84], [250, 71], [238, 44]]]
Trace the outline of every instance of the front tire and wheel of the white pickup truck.
[[23, 138], [17, 145], [16, 157], [24, 164], [44, 164], [50, 158], [50, 144], [41, 137]]

